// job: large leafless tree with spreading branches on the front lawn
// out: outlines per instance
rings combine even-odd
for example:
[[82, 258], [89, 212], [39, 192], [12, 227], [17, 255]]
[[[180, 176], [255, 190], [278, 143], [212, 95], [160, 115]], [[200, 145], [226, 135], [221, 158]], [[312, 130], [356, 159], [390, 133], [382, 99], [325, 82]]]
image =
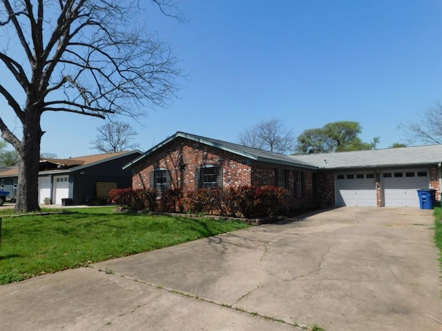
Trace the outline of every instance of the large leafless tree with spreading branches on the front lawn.
[[[151, 1], [171, 15], [169, 0]], [[177, 59], [155, 34], [137, 24], [143, 20], [137, 3], [1, 1], [0, 70], [8, 71], [20, 89], [10, 88], [2, 75], [0, 95], [23, 128], [22, 135], [16, 135], [0, 117], [1, 137], [14, 146], [19, 161], [16, 210], [39, 209], [44, 112], [135, 117], [146, 107], [166, 106], [174, 97], [175, 79], [182, 75]]]

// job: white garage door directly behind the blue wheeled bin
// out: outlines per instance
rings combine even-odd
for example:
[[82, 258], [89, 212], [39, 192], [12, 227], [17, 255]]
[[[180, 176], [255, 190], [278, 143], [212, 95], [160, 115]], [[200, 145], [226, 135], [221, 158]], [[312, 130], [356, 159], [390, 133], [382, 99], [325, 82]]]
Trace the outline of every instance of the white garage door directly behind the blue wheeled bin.
[[419, 207], [416, 190], [430, 187], [425, 170], [383, 172], [381, 178], [386, 207]]

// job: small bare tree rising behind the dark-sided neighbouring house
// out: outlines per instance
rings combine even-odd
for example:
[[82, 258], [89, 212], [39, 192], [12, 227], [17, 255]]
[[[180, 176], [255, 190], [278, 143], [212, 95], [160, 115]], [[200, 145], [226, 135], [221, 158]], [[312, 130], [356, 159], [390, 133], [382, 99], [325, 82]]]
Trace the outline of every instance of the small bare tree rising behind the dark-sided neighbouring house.
[[137, 132], [128, 123], [109, 122], [97, 128], [97, 139], [90, 141], [92, 148], [104, 153], [135, 150], [140, 145], [133, 143]]

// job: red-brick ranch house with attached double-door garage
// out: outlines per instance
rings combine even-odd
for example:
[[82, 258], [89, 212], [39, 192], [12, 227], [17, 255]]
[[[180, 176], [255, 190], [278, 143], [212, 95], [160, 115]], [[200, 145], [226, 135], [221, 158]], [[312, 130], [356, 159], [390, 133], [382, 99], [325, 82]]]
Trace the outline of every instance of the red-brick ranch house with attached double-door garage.
[[296, 205], [419, 207], [417, 189], [440, 201], [441, 163], [442, 145], [287, 156], [177, 132], [123, 168], [159, 192], [275, 185]]

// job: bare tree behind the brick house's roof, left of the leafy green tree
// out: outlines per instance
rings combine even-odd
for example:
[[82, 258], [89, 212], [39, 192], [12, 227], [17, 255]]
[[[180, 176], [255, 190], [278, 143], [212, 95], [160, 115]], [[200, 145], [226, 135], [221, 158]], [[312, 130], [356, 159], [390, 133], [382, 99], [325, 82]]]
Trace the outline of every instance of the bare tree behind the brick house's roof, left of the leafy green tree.
[[241, 145], [278, 154], [293, 152], [295, 148], [292, 130], [285, 128], [280, 119], [260, 121], [249, 130], [242, 132], [238, 140]]

